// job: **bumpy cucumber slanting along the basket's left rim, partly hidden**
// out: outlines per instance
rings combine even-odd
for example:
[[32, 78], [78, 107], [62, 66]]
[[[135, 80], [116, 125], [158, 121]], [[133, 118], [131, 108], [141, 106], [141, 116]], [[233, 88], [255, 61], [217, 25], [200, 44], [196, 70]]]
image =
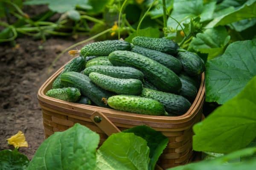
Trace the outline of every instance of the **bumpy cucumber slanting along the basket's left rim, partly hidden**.
[[[85, 65], [84, 57], [76, 57], [72, 59], [69, 63], [67, 63], [63, 71], [61, 71], [61, 74], [67, 71], [80, 72], [84, 69], [84, 65]], [[58, 77], [52, 83], [52, 88], [63, 88], [63, 86], [61, 85], [61, 74], [59, 74]]]

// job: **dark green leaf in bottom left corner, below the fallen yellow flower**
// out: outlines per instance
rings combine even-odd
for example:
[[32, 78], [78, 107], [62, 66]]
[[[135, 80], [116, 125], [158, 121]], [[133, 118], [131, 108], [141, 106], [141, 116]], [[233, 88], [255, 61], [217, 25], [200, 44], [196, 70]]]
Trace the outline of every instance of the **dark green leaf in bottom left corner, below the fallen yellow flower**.
[[15, 150], [0, 151], [0, 170], [25, 170], [29, 159]]

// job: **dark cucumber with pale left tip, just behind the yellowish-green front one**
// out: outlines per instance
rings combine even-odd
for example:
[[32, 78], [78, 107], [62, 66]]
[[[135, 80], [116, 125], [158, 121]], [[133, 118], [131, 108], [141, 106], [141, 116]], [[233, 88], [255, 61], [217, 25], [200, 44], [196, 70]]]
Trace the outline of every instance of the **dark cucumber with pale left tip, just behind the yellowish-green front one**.
[[183, 96], [148, 88], [143, 88], [140, 96], [161, 102], [165, 106], [165, 110], [170, 114], [182, 115], [186, 113], [191, 106], [190, 102]]

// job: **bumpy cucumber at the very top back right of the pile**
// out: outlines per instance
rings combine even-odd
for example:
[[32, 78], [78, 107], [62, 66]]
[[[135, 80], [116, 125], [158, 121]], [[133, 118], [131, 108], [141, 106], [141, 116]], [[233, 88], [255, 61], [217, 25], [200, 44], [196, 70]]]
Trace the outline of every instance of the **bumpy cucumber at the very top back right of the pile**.
[[166, 38], [134, 37], [133, 45], [160, 51], [166, 54], [176, 55], [179, 45]]

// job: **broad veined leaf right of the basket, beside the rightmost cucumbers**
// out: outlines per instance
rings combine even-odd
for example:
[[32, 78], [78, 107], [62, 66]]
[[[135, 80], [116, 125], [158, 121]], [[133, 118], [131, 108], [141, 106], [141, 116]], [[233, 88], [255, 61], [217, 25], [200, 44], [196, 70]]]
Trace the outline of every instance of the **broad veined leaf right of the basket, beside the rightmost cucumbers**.
[[221, 57], [206, 63], [206, 101], [223, 104], [256, 75], [256, 42], [230, 44]]

